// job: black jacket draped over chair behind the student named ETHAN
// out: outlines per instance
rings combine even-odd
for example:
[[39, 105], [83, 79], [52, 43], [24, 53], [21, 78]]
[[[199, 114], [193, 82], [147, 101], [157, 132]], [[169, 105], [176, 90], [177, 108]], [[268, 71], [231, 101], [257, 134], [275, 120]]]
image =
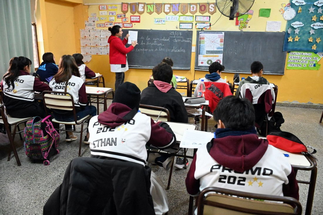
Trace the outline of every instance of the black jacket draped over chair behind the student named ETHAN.
[[43, 214], [155, 214], [150, 174], [149, 167], [129, 161], [74, 158]]

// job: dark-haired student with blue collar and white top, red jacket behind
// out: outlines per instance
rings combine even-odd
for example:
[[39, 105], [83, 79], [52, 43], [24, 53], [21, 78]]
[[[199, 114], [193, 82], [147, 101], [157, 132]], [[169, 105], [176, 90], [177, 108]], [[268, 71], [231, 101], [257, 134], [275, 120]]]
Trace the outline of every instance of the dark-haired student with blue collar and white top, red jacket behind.
[[[221, 82], [221, 83], [226, 83], [224, 79], [221, 78], [221, 73], [224, 70], [224, 66], [221, 65], [218, 62], [213, 62], [209, 66], [209, 73], [210, 74], [205, 74], [204, 82]], [[197, 89], [199, 89], [201, 84], [201, 79], [197, 82], [196, 84], [196, 90], [194, 91], [194, 96], [197, 97]]]

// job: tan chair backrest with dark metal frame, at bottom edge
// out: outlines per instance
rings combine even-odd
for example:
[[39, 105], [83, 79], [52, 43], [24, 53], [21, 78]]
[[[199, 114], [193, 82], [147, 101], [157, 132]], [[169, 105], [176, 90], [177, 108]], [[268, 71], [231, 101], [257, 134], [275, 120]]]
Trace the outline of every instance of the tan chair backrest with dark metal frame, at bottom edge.
[[208, 187], [198, 197], [197, 214], [302, 214], [302, 206], [292, 197]]

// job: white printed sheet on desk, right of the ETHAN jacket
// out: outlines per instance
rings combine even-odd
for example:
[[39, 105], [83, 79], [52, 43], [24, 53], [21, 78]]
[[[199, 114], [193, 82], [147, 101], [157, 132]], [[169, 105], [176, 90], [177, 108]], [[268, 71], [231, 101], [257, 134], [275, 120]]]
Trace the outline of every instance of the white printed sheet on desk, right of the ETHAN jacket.
[[180, 147], [182, 148], [199, 148], [207, 144], [214, 137], [211, 132], [186, 130], [184, 131]]

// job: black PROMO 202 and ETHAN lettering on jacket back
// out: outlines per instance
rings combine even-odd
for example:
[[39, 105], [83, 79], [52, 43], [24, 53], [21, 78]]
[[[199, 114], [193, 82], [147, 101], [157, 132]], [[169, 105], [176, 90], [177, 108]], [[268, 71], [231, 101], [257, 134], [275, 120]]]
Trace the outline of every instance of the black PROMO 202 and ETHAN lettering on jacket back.
[[[127, 128], [127, 125], [134, 125], [135, 124], [135, 120], [134, 119], [130, 119], [129, 121], [125, 122], [124, 124], [118, 126], [118, 127], [115, 127], [115, 128], [110, 128], [109, 126], [103, 126], [101, 127], [101, 124], [97, 121], [93, 124], [93, 127], [94, 126], [100, 126], [98, 127], [97, 129], [97, 132], [96, 134], [99, 134], [99, 133], [104, 133], [104, 132], [124, 132], [124, 131], [127, 131], [128, 128]], [[101, 138], [101, 139], [98, 139], [98, 140], [95, 140], [93, 141], [93, 148], [97, 148], [97, 147], [102, 147], [102, 146], [113, 146], [113, 145], [117, 145], [117, 137], [110, 137], [110, 138]], [[121, 145], [127, 145], [126, 144], [126, 139], [125, 138], [121, 138]]]

